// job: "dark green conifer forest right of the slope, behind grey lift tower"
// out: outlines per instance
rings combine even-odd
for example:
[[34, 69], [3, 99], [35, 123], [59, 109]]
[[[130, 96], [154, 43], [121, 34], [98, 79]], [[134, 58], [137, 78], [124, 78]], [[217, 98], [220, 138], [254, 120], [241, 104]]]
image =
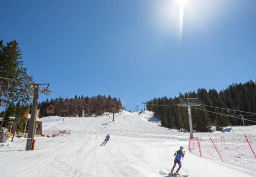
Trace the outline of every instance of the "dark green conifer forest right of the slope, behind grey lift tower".
[[[212, 131], [212, 126], [216, 126], [217, 130], [222, 130], [226, 126], [243, 125], [242, 119], [239, 119], [241, 118], [241, 114], [243, 114], [246, 119], [256, 121], [256, 115], [232, 111], [239, 110], [256, 113], [256, 82], [253, 81], [248, 81], [244, 84], [232, 84], [228, 88], [219, 92], [216, 89], [209, 89], [208, 91], [206, 89], [197, 89], [196, 92], [191, 91], [184, 94], [180, 93], [178, 97], [174, 98], [167, 98], [166, 96], [154, 98], [147, 102], [147, 110], [155, 113], [155, 116], [161, 120], [161, 126], [168, 128], [176, 127], [182, 131], [189, 131], [190, 127], [187, 107], [154, 105], [177, 105], [181, 103], [179, 100], [180, 98], [198, 98], [197, 103], [200, 104], [200, 106], [195, 108], [201, 110], [191, 108], [193, 130], [196, 132], [210, 132]], [[238, 118], [231, 118], [220, 114]], [[245, 124], [255, 125], [256, 123], [245, 120]]]

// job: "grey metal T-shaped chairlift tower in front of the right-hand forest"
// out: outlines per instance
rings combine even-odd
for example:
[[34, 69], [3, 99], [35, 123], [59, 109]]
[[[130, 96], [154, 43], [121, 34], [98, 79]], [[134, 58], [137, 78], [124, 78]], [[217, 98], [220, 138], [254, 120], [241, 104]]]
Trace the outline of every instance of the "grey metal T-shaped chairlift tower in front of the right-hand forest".
[[192, 115], [191, 115], [191, 106], [200, 106], [199, 104], [196, 103], [197, 98], [180, 98], [179, 100], [181, 101], [181, 104], [179, 106], [182, 107], [188, 107], [188, 112], [189, 112], [189, 121], [190, 121], [190, 134], [191, 137], [193, 138], [193, 126], [192, 126]]

